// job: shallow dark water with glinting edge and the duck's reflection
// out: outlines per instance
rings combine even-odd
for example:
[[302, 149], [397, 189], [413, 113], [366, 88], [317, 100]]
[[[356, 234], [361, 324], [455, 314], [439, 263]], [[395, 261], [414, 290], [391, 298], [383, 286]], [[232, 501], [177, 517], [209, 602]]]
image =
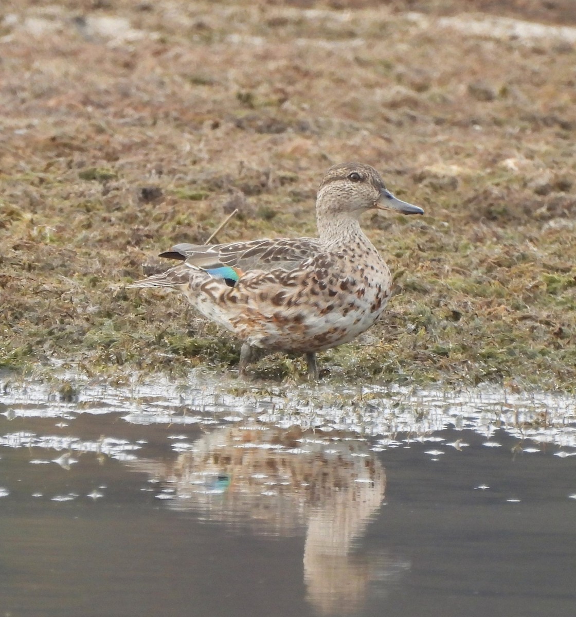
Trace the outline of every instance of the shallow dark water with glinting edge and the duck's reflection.
[[574, 615], [574, 400], [233, 385], [6, 379], [1, 614]]

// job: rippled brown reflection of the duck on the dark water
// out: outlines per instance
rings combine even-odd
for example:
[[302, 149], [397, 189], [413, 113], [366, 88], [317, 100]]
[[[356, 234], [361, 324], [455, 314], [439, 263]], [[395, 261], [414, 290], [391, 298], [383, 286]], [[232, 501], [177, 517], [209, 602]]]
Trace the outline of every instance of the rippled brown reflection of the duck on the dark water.
[[[322, 614], [361, 608], [372, 581], [385, 586], [408, 567], [361, 550], [382, 503], [386, 474], [354, 434], [230, 426], [207, 433], [167, 463], [131, 463], [174, 491], [169, 507], [195, 509], [228, 526], [287, 536], [305, 529], [307, 599]], [[384, 591], [385, 589], [380, 589]]]

